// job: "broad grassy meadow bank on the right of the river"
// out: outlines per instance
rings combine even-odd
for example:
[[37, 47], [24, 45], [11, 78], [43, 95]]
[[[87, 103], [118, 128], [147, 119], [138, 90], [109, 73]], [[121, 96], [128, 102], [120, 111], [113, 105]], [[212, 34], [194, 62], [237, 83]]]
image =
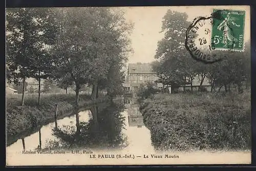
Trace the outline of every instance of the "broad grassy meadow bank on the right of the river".
[[140, 103], [158, 149], [251, 148], [250, 94], [157, 94]]

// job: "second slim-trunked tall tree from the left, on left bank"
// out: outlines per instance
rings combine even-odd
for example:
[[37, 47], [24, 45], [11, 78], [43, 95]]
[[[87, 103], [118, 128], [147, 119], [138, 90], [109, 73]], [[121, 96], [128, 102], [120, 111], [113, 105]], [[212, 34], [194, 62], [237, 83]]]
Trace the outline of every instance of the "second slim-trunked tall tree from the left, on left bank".
[[56, 12], [53, 8], [35, 8], [34, 18], [37, 35], [35, 50], [31, 56], [32, 77], [38, 81], [38, 105], [40, 106], [41, 79], [52, 77], [54, 70], [53, 46], [59, 34]]

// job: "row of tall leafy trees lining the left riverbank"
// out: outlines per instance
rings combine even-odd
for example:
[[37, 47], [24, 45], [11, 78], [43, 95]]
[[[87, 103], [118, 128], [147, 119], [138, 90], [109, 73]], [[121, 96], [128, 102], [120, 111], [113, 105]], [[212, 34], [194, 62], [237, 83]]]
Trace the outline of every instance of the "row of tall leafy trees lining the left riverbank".
[[13, 8], [6, 13], [6, 73], [8, 82], [52, 79], [60, 88], [73, 85], [78, 105], [84, 84], [115, 96], [122, 91], [122, 68], [131, 52], [127, 37], [133, 25], [112, 8]]

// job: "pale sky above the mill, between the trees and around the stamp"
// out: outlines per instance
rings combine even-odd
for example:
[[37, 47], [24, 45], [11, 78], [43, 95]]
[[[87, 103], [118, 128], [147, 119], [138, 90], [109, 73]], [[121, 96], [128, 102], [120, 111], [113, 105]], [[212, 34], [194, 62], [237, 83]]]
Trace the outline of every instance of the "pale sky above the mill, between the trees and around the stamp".
[[134, 53], [129, 56], [128, 63], [151, 62], [156, 54], [157, 42], [163, 38], [160, 33], [162, 20], [168, 9], [186, 12], [188, 21], [192, 22], [198, 16], [210, 16], [213, 8], [246, 10], [245, 40], [250, 37], [249, 6], [180, 6], [180, 7], [118, 7], [125, 12], [127, 22], [134, 23], [130, 38]]

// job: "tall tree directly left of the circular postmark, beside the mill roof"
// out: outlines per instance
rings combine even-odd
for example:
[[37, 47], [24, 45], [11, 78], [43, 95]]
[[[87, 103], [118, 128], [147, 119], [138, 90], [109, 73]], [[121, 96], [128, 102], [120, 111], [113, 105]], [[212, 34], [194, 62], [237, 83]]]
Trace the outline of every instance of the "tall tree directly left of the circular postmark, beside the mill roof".
[[191, 66], [187, 65], [193, 61], [187, 59], [189, 54], [184, 46], [185, 32], [189, 26], [187, 17], [186, 13], [167, 11], [162, 22], [164, 38], [158, 42], [155, 55], [156, 59], [160, 59], [161, 67], [158, 69], [162, 70], [161, 75], [165, 75], [165, 82], [173, 89], [185, 85], [186, 77], [194, 76], [189, 72]]

